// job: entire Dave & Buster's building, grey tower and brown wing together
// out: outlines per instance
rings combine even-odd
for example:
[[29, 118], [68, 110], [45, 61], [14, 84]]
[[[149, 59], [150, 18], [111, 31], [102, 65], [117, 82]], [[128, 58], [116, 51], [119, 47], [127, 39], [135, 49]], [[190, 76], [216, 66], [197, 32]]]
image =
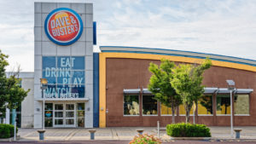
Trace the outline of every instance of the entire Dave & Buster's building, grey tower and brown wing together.
[[[165, 58], [197, 64], [207, 57], [212, 67], [204, 73], [205, 94], [190, 112], [190, 122], [195, 115], [196, 124], [230, 125], [232, 114], [235, 126], [256, 125], [256, 60], [114, 46], [93, 53], [91, 3], [35, 3], [34, 13], [34, 72], [20, 73], [21, 86], [31, 89], [21, 105], [22, 128], [156, 126], [157, 121], [166, 126], [172, 123], [172, 110], [147, 89], [149, 63], [159, 65]], [[40, 78], [47, 79], [47, 89], [42, 90]], [[228, 79], [236, 82], [232, 113]], [[175, 114], [176, 122], [184, 122], [183, 106]]]

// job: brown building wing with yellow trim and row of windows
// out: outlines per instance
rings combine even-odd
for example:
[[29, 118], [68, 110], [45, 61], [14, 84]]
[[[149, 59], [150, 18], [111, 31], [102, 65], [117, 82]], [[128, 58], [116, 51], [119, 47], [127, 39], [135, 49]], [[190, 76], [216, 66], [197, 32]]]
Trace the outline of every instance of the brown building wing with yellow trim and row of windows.
[[[175, 63], [200, 63], [207, 56], [212, 67], [204, 73], [204, 96], [195, 109], [195, 123], [230, 125], [230, 90], [226, 80], [236, 82], [232, 104], [236, 126], [256, 125], [256, 61], [224, 55], [210, 55], [169, 49], [102, 46], [100, 57], [100, 127], [160, 126], [172, 123], [172, 109], [154, 100], [148, 91], [150, 62], [162, 58]], [[193, 123], [193, 110], [190, 122]], [[185, 121], [183, 106], [178, 107], [176, 122]]]

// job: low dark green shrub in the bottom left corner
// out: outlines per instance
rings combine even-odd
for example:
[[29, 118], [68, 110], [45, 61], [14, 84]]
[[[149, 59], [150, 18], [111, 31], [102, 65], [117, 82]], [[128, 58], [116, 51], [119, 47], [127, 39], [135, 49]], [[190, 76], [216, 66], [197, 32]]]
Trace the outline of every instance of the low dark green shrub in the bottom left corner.
[[[15, 135], [15, 126], [12, 124], [0, 124], [0, 138], [9, 138]], [[16, 129], [16, 133], [18, 129]]]

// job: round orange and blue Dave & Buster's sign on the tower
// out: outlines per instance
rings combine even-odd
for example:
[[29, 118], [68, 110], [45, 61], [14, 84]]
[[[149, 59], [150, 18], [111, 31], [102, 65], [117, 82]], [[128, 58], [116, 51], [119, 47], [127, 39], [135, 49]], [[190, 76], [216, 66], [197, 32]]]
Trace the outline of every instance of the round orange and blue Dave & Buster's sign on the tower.
[[73, 9], [59, 8], [51, 11], [44, 22], [49, 39], [59, 45], [75, 43], [83, 32], [83, 22]]

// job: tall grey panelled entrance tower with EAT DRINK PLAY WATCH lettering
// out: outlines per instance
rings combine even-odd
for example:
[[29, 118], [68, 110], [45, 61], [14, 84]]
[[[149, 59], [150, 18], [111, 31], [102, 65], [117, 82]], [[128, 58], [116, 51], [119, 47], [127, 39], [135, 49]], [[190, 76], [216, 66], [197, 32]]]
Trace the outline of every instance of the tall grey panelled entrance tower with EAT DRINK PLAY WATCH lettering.
[[93, 127], [92, 4], [35, 3], [34, 12], [34, 128]]

